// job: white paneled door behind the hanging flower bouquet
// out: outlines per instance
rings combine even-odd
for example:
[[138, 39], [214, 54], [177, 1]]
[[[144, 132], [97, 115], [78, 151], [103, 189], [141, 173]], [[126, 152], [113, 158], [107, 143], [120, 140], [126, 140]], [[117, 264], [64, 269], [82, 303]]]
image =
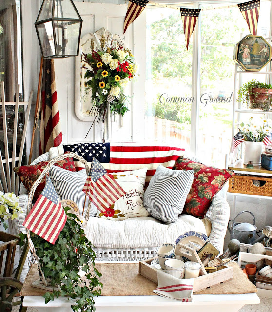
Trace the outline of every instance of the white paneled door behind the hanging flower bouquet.
[[[143, 137], [144, 123], [144, 87], [145, 87], [145, 11], [132, 23], [123, 35], [124, 18], [127, 5], [79, 3], [75, 2], [83, 19], [81, 37], [93, 33], [101, 27], [112, 34], [119, 34], [124, 46], [131, 49], [139, 64], [139, 78], [128, 86], [131, 98], [129, 112], [124, 117], [124, 126], [113, 133], [113, 141], [140, 141]], [[69, 12], [67, 12], [69, 15]], [[75, 114], [75, 58], [57, 59], [55, 74], [58, 92], [63, 142], [84, 141], [91, 126], [90, 121], [79, 120]], [[85, 141], [101, 141], [103, 124], [95, 122]]]

